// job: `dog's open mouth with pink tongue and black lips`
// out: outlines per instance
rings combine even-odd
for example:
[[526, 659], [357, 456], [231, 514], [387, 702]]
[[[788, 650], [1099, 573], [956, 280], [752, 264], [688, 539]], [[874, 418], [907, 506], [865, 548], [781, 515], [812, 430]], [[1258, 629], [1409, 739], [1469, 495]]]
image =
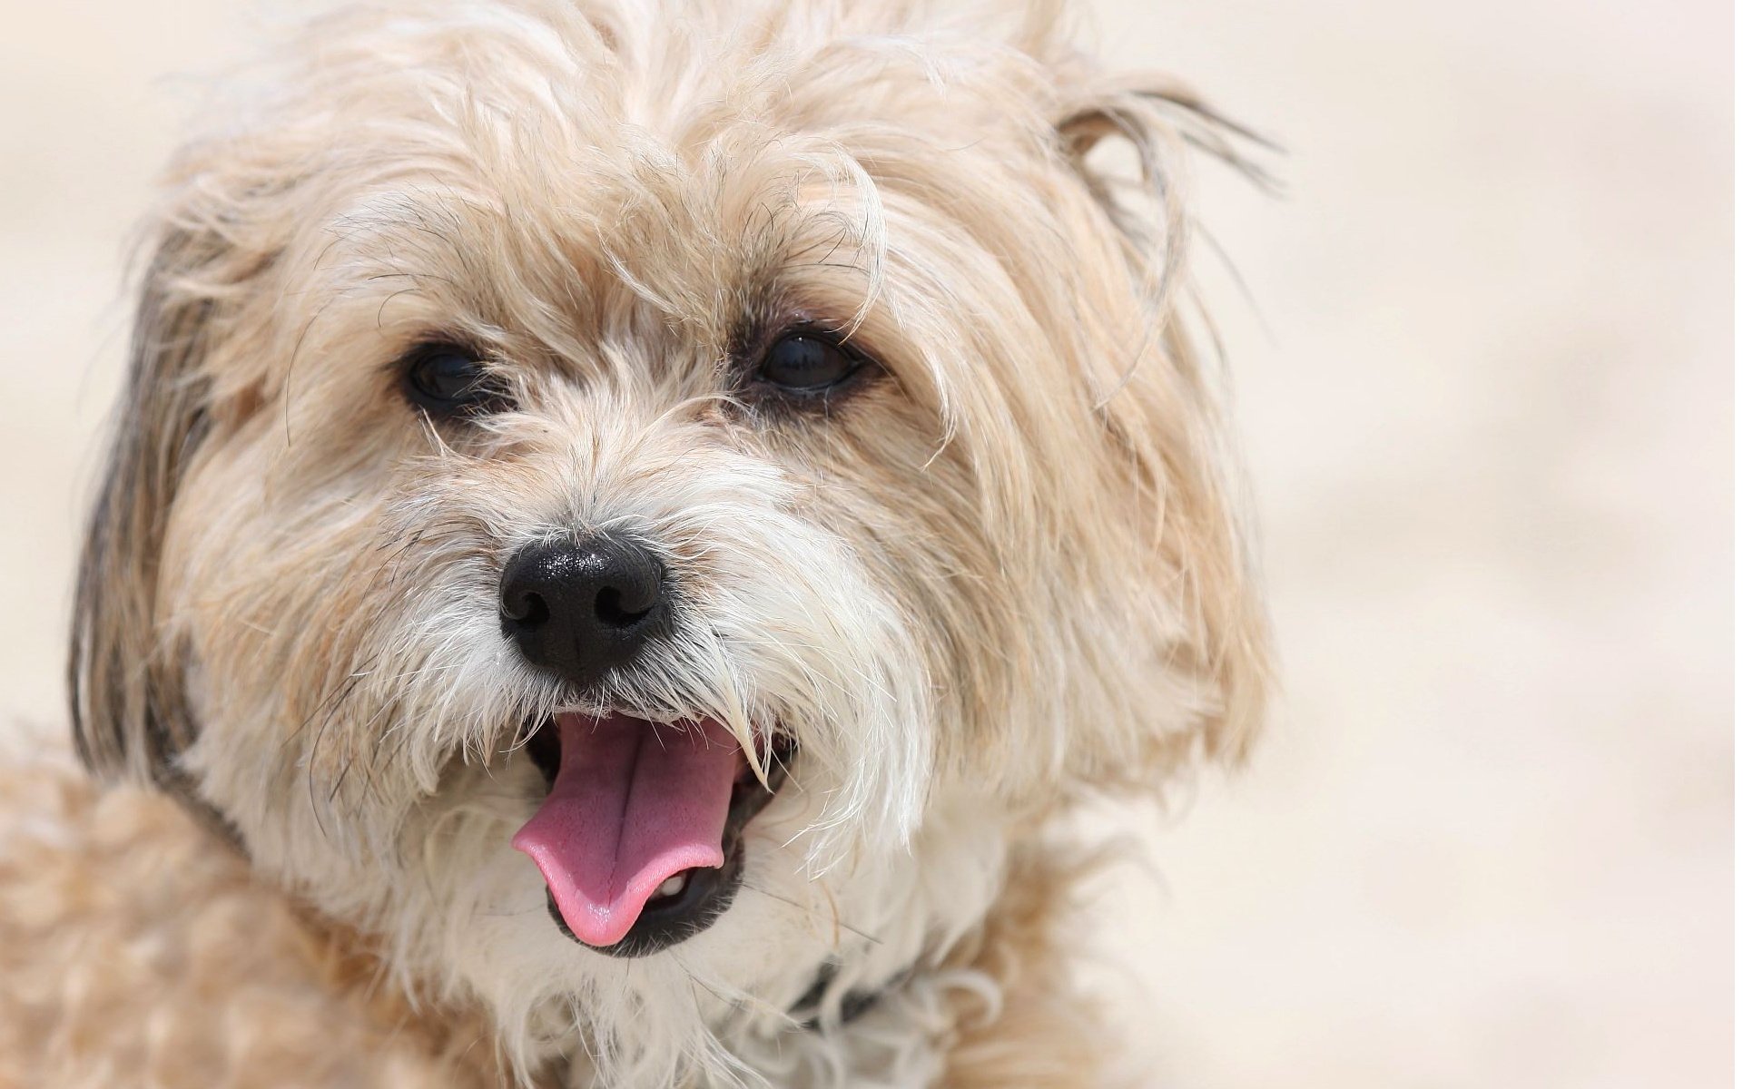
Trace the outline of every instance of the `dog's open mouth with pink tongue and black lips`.
[[572, 937], [614, 957], [655, 953], [732, 904], [744, 826], [781, 788], [793, 747], [776, 734], [765, 788], [718, 721], [556, 714], [526, 742], [551, 791], [514, 849], [539, 864]]

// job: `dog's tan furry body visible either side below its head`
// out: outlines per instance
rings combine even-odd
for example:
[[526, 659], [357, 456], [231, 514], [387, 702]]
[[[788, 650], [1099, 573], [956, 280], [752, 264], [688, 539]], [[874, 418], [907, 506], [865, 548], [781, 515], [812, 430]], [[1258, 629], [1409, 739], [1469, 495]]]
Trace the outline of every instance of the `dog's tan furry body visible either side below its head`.
[[[483, 1011], [410, 1000], [373, 943], [254, 876], [162, 793], [103, 789], [64, 753], [16, 758], [0, 770], [0, 1086], [514, 1084]], [[943, 1070], [953, 1089], [1107, 1086], [1121, 1066], [1110, 1026], [1065, 974], [1081, 868], [1025, 856], [973, 937], [903, 981], [924, 990], [891, 995], [931, 1045], [901, 1054], [885, 1040], [905, 1037], [866, 1011], [847, 1028], [872, 1037], [854, 1047], [868, 1068], [844, 1070], [845, 1084], [919, 1086]], [[840, 1047], [800, 1032], [788, 1065]], [[532, 1080], [591, 1075], [580, 1052]]]

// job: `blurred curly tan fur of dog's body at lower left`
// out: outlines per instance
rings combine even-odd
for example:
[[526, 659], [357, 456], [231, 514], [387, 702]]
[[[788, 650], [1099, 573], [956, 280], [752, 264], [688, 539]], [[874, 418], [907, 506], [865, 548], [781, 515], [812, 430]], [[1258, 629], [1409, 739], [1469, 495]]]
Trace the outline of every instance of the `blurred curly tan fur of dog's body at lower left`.
[[413, 1007], [174, 802], [45, 749], [0, 763], [0, 1086], [502, 1084], [476, 1016]]

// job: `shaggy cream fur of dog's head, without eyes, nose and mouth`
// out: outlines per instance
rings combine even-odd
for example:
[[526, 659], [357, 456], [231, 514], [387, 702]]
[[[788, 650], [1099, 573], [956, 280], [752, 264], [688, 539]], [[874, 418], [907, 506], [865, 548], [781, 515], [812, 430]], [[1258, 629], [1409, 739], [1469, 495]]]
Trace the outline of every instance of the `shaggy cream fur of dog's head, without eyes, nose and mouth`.
[[[77, 599], [85, 760], [216, 814], [401, 984], [481, 1002], [523, 1077], [924, 1077], [926, 995], [880, 1011], [882, 1058], [844, 1042], [844, 995], [973, 932], [1018, 829], [1239, 754], [1264, 692], [1220, 382], [1178, 305], [1182, 150], [1238, 134], [1060, 23], [314, 23], [152, 228]], [[1109, 138], [1140, 178], [1089, 162]], [[770, 385], [795, 329], [851, 380]], [[431, 345], [488, 411], [408, 399]], [[678, 605], [580, 695], [504, 638], [498, 584], [607, 530]], [[547, 789], [525, 746], [577, 706], [723, 723], [758, 772], [795, 742], [746, 892], [640, 960], [554, 927], [509, 847]]]

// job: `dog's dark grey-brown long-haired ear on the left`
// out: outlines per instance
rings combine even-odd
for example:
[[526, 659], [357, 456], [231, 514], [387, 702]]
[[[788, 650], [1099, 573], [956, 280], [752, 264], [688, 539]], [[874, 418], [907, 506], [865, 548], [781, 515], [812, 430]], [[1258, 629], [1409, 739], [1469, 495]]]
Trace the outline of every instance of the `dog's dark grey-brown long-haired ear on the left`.
[[173, 786], [193, 735], [180, 655], [159, 638], [157, 584], [176, 488], [206, 434], [200, 373], [213, 301], [174, 281], [213, 247], [173, 230], [146, 270], [125, 378], [78, 566], [68, 662], [73, 741], [103, 775]]

